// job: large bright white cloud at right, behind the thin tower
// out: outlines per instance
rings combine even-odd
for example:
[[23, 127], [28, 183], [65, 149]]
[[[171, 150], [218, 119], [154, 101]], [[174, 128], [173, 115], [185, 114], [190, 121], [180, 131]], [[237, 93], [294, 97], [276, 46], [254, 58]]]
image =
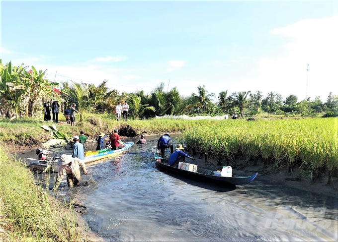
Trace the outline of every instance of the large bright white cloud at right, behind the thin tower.
[[259, 60], [259, 75], [247, 79], [246, 87], [283, 98], [295, 94], [299, 100], [320, 96], [324, 101], [329, 92], [338, 93], [338, 16], [305, 19], [271, 33], [291, 39], [278, 55]]

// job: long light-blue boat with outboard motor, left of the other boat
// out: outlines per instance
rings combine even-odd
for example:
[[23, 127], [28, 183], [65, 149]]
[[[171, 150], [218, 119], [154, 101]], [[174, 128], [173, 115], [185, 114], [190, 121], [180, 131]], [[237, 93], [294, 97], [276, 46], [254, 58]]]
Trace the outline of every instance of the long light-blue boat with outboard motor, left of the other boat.
[[[94, 161], [98, 161], [101, 159], [109, 158], [118, 154], [121, 154], [123, 151], [129, 149], [132, 147], [134, 142], [125, 142], [124, 147], [122, 149], [118, 150], [112, 150], [112, 149], [105, 149], [100, 150], [99, 152], [92, 152], [97, 153], [93, 155], [84, 156], [84, 164], [88, 164]], [[32, 170], [37, 170], [41, 172], [57, 172], [59, 170], [59, 165], [57, 164], [58, 158], [51, 159], [51, 160], [38, 160], [33, 158], [26, 158], [27, 161], [32, 162], [29, 164], [29, 168]]]

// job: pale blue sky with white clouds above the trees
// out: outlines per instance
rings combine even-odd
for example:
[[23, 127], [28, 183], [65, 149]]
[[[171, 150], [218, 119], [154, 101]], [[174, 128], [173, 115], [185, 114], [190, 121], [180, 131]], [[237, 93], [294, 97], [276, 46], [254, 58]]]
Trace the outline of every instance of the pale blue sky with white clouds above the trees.
[[[50, 81], [182, 96], [338, 95], [338, 1], [0, 2], [2, 63]], [[309, 64], [309, 65], [308, 65]], [[307, 68], [308, 66], [308, 68]]]

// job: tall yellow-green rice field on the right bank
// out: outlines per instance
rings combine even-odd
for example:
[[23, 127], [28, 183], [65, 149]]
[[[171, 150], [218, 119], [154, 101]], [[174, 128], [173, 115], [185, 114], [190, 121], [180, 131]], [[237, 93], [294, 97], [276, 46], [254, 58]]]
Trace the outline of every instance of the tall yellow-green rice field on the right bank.
[[338, 169], [338, 119], [226, 120], [182, 132], [181, 141], [201, 155], [236, 165], [238, 158], [277, 169], [299, 166], [316, 178]]

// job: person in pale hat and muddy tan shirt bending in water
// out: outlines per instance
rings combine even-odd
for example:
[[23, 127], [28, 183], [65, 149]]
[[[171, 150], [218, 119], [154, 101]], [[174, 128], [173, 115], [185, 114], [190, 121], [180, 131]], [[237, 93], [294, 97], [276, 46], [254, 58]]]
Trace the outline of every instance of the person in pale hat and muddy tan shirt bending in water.
[[70, 187], [79, 185], [81, 180], [80, 167], [84, 171], [84, 175], [87, 175], [87, 170], [85, 169], [84, 161], [79, 158], [73, 158], [71, 155], [63, 154], [58, 160], [60, 165], [59, 174], [55, 182], [54, 189], [58, 189], [60, 182], [66, 175], [67, 184]]

